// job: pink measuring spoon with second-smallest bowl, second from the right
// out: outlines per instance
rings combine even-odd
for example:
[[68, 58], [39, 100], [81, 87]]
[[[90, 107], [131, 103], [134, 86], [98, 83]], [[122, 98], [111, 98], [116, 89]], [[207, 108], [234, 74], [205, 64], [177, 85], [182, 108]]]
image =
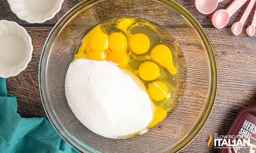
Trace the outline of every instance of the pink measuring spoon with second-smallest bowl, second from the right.
[[243, 30], [243, 25], [244, 22], [246, 21], [248, 15], [250, 14], [254, 4], [255, 4], [256, 0], [251, 0], [250, 3], [248, 4], [246, 10], [244, 11], [243, 16], [241, 17], [239, 22], [235, 22], [232, 27], [231, 27], [231, 31], [234, 35], [239, 35], [242, 30]]

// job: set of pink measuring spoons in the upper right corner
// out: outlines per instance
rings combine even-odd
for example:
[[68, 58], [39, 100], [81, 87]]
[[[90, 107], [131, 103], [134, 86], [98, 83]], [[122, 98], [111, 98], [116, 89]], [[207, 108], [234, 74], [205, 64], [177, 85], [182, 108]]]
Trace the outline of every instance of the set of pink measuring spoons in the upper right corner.
[[[195, 0], [196, 9], [203, 13], [203, 14], [210, 14], [212, 13], [218, 6], [219, 2], [224, 0]], [[227, 9], [220, 9], [213, 13], [212, 16], [212, 23], [213, 25], [221, 29], [227, 25], [229, 22], [230, 17], [239, 9], [241, 8], [247, 0], [234, 0], [232, 4], [229, 5]], [[246, 21], [247, 17], [249, 16], [253, 6], [255, 5], [256, 0], [251, 0], [248, 4], [244, 14], [242, 15], [239, 22], [235, 22], [232, 27], [231, 31], [234, 35], [239, 35], [242, 32], [244, 22]], [[254, 17], [250, 26], [247, 27], [246, 32], [247, 35], [253, 36], [255, 33], [255, 26], [256, 26], [256, 10], [254, 12]]]

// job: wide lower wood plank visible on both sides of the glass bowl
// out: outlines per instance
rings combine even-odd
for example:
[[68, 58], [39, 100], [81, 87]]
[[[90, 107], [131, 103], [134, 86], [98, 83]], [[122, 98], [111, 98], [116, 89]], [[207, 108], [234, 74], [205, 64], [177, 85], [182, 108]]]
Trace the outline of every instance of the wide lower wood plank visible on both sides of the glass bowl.
[[[22, 117], [46, 117], [39, 96], [38, 64], [51, 27], [25, 28], [32, 37], [34, 46], [32, 60], [26, 70], [7, 79], [8, 92], [17, 97], [18, 113]], [[250, 42], [250, 37], [246, 37], [245, 33], [234, 39], [228, 34], [230, 29], [205, 30], [212, 42], [218, 63], [217, 100], [206, 126], [181, 152], [216, 152], [216, 149], [204, 145], [207, 134], [224, 134], [237, 111], [249, 105], [256, 97], [256, 49], [253, 45], [256, 39]]]

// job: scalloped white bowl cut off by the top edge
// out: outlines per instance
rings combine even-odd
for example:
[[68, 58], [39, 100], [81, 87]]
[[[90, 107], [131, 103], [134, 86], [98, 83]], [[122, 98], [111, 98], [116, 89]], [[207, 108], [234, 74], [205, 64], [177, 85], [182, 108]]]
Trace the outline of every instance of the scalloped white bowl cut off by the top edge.
[[43, 23], [52, 19], [64, 0], [7, 0], [13, 13], [29, 23]]

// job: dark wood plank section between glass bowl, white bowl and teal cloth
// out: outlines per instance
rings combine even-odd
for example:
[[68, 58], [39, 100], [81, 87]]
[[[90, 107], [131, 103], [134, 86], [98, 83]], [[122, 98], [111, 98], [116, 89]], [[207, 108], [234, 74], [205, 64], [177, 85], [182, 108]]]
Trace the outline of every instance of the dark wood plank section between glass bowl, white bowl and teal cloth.
[[46, 117], [39, 93], [38, 66], [44, 42], [52, 27], [25, 29], [32, 39], [32, 60], [19, 75], [6, 80], [7, 90], [17, 98], [17, 112], [21, 117]]

